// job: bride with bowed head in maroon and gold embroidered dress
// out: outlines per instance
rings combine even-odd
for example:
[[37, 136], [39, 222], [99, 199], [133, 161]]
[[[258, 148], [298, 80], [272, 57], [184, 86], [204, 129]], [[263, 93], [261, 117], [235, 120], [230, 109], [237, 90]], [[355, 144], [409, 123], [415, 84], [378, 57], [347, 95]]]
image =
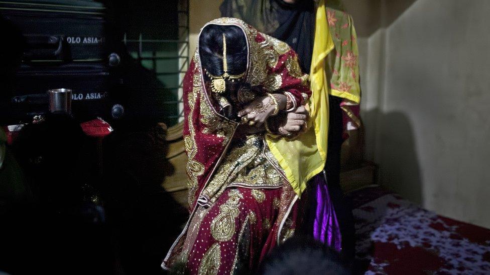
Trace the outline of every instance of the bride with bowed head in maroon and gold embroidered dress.
[[254, 272], [301, 222], [304, 188], [270, 144], [304, 132], [308, 75], [286, 43], [238, 19], [207, 23], [198, 41], [183, 97], [191, 214], [162, 267]]

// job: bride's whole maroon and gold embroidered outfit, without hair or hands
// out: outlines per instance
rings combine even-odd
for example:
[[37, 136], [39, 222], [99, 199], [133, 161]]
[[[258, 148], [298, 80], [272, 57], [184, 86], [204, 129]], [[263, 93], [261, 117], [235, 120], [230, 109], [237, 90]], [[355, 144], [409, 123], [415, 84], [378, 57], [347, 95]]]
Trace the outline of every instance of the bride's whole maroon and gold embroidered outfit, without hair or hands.
[[[245, 34], [245, 82], [270, 93], [288, 91], [298, 106], [304, 94], [310, 95], [308, 76], [287, 44], [238, 19], [208, 24], [237, 26]], [[191, 214], [162, 267], [191, 274], [253, 272], [294, 233], [304, 198], [293, 191], [264, 133], [244, 134], [237, 122], [220, 114], [204, 83], [198, 50], [184, 78], [183, 97]]]

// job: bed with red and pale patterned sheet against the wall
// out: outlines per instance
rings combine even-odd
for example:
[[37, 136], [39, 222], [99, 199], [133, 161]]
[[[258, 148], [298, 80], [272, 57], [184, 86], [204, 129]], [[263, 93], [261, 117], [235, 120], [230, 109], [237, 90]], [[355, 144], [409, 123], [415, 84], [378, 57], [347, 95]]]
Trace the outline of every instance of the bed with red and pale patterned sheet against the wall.
[[366, 274], [490, 274], [490, 229], [437, 215], [396, 193], [349, 194]]

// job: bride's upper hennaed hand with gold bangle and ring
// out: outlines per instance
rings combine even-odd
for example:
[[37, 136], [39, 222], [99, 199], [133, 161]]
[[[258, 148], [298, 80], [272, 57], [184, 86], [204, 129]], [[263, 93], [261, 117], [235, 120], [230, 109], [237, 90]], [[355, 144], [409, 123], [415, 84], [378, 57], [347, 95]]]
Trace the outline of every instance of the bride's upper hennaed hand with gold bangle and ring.
[[264, 96], [253, 101], [245, 109], [238, 112], [238, 117], [241, 117], [242, 122], [248, 123], [251, 126], [261, 127], [264, 121], [270, 117], [276, 108], [283, 110], [286, 107], [286, 96], [283, 94], [274, 94], [276, 102], [279, 106], [275, 106], [270, 96]]

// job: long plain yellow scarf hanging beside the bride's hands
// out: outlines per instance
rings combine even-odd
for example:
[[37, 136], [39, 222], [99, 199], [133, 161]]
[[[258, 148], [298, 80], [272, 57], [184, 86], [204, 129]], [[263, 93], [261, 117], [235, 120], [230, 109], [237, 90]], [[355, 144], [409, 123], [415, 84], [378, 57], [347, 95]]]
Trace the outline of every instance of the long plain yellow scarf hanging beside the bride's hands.
[[312, 125], [293, 141], [267, 137], [271, 152], [278, 159], [298, 196], [301, 196], [308, 180], [323, 170], [327, 157], [328, 85], [325, 58], [334, 44], [328, 28], [324, 0], [319, 1], [316, 11], [314, 41], [310, 75], [312, 95], [308, 103]]

